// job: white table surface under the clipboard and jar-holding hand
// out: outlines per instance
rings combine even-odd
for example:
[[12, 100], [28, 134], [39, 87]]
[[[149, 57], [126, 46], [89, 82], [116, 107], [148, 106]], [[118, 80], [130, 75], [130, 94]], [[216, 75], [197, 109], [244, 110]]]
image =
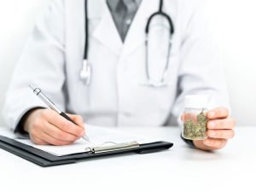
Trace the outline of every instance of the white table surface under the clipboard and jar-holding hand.
[[189, 148], [175, 127], [121, 130], [174, 146], [47, 168], [0, 149], [0, 191], [256, 191], [256, 127], [237, 127], [226, 148], [211, 153]]

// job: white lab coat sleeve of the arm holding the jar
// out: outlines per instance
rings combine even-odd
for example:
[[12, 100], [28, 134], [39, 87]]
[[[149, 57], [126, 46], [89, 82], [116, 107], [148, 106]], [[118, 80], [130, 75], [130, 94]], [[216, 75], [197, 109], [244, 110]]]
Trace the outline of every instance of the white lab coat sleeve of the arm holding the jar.
[[[182, 30], [177, 99], [172, 108], [172, 115], [179, 125], [187, 95], [209, 96], [209, 109], [230, 108], [219, 49], [212, 36], [203, 1], [186, 2], [184, 13], [187, 15], [184, 16], [187, 18], [183, 20], [188, 21]], [[191, 6], [192, 3], [194, 6]]]

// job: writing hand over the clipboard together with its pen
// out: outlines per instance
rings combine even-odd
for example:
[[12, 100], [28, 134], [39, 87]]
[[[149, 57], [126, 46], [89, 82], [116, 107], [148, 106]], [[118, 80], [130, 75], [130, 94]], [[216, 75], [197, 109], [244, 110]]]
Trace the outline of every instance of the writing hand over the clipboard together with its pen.
[[[89, 141], [89, 138], [85, 136], [84, 122], [81, 116], [62, 113], [40, 89], [34, 87], [32, 89], [51, 108], [36, 108], [27, 114], [24, 130], [29, 133], [33, 143], [68, 145], [80, 137]], [[47, 102], [46, 99], [48, 99]]]

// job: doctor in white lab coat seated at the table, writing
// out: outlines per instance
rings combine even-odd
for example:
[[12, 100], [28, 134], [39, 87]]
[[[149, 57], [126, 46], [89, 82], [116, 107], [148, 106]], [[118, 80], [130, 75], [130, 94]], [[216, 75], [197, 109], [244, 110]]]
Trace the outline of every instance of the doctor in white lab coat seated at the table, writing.
[[[200, 94], [211, 98], [208, 138], [186, 142], [224, 148], [234, 137], [235, 120], [202, 10], [201, 0], [51, 1], [15, 68], [3, 110], [9, 127], [37, 144], [67, 145], [84, 136], [84, 122], [179, 121], [184, 96]], [[155, 16], [146, 38], [155, 12], [168, 17]], [[78, 125], [46, 109], [28, 84], [38, 84]]]

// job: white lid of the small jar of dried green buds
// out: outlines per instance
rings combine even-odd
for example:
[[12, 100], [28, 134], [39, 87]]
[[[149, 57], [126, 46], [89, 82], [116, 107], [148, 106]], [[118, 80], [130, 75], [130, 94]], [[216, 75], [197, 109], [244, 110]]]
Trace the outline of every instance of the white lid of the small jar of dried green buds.
[[203, 95], [185, 96], [184, 107], [185, 108], [207, 108], [208, 102], [209, 102], [208, 96], [203, 96]]

